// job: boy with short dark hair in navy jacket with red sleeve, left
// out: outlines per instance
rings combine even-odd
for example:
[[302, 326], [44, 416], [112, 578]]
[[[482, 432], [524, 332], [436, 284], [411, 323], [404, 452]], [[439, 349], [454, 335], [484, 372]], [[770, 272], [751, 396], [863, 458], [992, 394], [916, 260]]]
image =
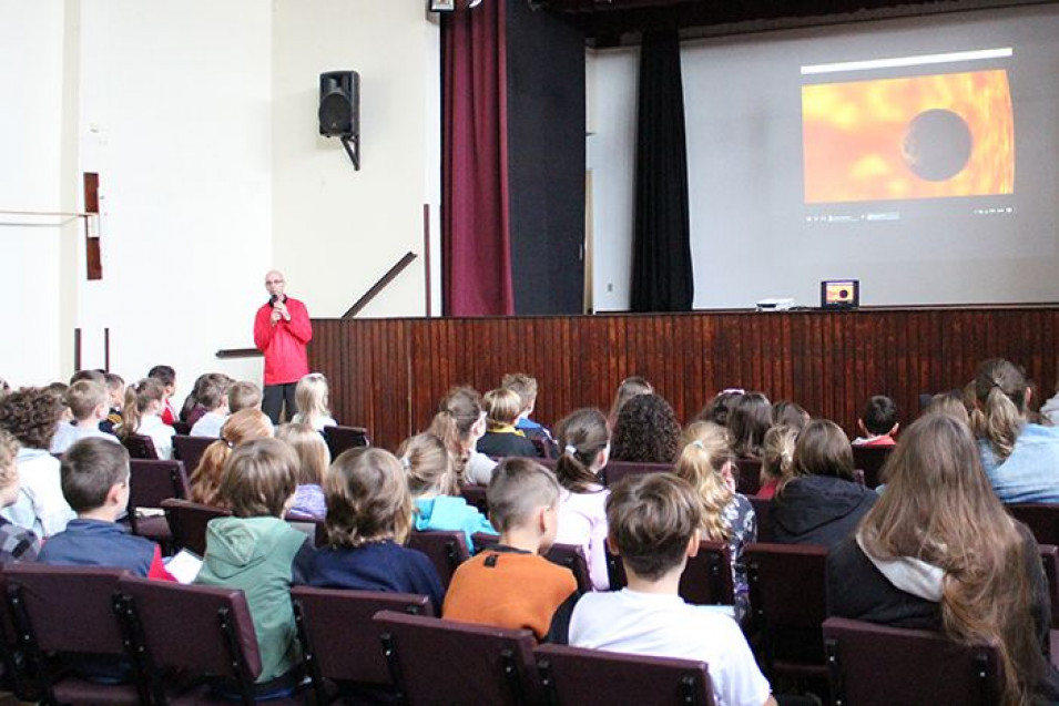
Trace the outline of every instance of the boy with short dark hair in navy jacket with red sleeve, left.
[[129, 452], [120, 443], [89, 438], [62, 457], [62, 494], [78, 513], [40, 551], [45, 564], [116, 566], [138, 576], [174, 581], [159, 545], [118, 524], [129, 505]]

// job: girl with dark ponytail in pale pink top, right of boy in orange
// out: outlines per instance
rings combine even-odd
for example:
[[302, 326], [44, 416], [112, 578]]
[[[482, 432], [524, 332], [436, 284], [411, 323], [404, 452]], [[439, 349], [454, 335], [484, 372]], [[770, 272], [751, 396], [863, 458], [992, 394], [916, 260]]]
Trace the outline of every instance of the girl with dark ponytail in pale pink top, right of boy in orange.
[[556, 478], [561, 485], [556, 541], [582, 546], [592, 586], [605, 591], [610, 587], [607, 573], [608, 490], [600, 483], [599, 472], [610, 459], [610, 428], [600, 410], [579, 409], [559, 422], [556, 431], [562, 450], [556, 462]]

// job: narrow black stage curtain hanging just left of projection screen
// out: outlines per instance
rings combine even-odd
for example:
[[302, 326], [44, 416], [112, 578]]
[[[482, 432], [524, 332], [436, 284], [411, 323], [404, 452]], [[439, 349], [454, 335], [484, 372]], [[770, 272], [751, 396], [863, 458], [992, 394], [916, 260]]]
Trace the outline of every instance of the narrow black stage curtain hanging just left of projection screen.
[[676, 30], [644, 34], [639, 103], [632, 310], [690, 311], [694, 280]]

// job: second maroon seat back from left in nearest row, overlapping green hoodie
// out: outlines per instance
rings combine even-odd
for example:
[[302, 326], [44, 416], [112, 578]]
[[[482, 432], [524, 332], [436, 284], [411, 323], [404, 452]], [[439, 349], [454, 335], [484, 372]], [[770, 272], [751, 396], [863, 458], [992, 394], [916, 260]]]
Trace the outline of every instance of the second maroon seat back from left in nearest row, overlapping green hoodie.
[[182, 585], [125, 575], [122, 595], [138, 645], [155, 667], [253, 682], [261, 674], [257, 636], [237, 589]]

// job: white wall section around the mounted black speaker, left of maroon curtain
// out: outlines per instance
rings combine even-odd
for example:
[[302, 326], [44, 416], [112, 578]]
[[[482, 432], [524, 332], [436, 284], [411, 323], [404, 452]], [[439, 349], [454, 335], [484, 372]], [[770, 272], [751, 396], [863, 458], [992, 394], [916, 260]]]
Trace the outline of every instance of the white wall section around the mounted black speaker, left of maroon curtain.
[[[411, 250], [419, 258], [360, 316], [422, 315], [422, 205], [440, 201], [438, 28], [422, 2], [275, 8], [275, 265], [314, 316], [334, 317]], [[337, 139], [318, 133], [319, 74], [338, 70], [360, 74], [359, 172]]]

